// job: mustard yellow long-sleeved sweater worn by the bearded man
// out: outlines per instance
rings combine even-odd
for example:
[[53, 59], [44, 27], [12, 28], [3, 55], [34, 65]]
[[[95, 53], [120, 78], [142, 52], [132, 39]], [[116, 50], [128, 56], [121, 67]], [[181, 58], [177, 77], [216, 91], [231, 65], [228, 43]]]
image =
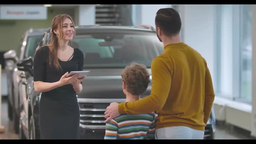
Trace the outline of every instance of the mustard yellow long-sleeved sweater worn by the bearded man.
[[204, 131], [214, 100], [205, 59], [185, 43], [169, 44], [153, 60], [151, 74], [151, 94], [119, 104], [119, 113], [157, 111], [157, 128], [187, 126]]

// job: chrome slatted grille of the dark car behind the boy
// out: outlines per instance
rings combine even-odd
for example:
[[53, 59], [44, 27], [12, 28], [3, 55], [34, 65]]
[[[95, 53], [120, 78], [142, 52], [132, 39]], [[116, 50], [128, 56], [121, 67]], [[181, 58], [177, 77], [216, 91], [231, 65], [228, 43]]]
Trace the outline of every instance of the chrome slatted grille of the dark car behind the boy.
[[78, 98], [80, 108], [80, 127], [105, 129], [104, 112], [111, 102], [124, 102], [125, 99]]

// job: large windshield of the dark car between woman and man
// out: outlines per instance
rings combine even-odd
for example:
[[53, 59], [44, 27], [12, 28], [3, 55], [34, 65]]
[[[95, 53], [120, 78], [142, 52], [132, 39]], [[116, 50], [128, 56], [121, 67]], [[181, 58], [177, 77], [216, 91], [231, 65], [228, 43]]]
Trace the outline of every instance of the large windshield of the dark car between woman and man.
[[163, 44], [154, 33], [76, 35], [71, 46], [84, 53], [84, 68], [124, 68], [131, 62], [151, 67]]

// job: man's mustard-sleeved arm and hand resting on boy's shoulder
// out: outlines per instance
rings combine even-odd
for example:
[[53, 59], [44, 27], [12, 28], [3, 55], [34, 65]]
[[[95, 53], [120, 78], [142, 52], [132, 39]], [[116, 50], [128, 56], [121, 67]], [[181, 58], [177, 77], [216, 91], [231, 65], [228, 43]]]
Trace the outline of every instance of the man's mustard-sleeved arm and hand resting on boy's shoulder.
[[151, 95], [140, 100], [125, 103], [112, 103], [105, 111], [106, 121], [120, 114], [146, 114], [159, 111], [165, 104], [171, 88], [171, 69], [164, 56], [155, 58], [151, 65]]

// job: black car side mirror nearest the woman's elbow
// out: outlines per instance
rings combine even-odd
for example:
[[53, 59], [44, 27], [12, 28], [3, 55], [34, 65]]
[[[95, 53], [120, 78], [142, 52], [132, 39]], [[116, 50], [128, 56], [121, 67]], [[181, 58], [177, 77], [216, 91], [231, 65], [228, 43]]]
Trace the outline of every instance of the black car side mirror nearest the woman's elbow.
[[34, 76], [33, 73], [33, 59], [32, 57], [28, 57], [26, 59], [22, 59], [17, 62], [17, 69], [24, 72], [29, 72], [30, 75]]

